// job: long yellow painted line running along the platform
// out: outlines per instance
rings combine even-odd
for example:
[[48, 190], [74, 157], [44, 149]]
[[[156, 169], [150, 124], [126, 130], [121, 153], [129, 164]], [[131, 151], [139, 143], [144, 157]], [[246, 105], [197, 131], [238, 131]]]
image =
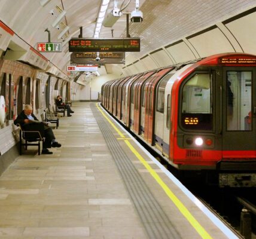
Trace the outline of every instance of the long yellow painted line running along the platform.
[[[102, 113], [102, 115], [108, 120], [108, 122], [112, 125], [112, 127], [115, 128], [117, 133], [120, 134], [120, 136], [123, 135], [120, 132], [120, 130], [118, 130], [118, 128], [115, 127], [115, 125], [106, 117], [106, 115], [99, 108], [98, 105], [97, 105], [97, 108]], [[139, 154], [139, 152], [136, 151], [135, 148], [133, 148], [133, 146], [130, 144], [130, 142], [128, 140], [125, 139], [124, 142], [126, 142], [126, 145], [130, 148], [130, 150], [133, 152], [133, 154], [135, 154], [135, 156], [138, 158], [138, 160], [141, 161], [141, 163], [144, 165], [144, 167], [147, 168], [147, 170], [154, 177], [154, 179], [157, 181], [157, 183], [159, 183], [161, 188], [163, 188], [164, 192], [167, 194], [167, 196], [170, 198], [170, 200], [172, 200], [173, 203], [175, 204], [175, 206], [178, 207], [179, 211], [182, 213], [182, 215], [185, 216], [185, 218], [188, 220], [188, 222], [190, 222], [190, 224], [193, 226], [193, 228], [196, 229], [196, 231], [199, 233], [199, 235], [204, 239], [211, 239], [212, 238], [211, 235], [209, 235], [208, 232], [206, 232], [206, 230], [203, 228], [203, 226], [200, 225], [200, 223], [194, 218], [193, 215], [191, 215], [191, 213], [188, 211], [187, 207], [185, 207], [184, 204], [182, 204], [181, 201], [179, 201], [179, 199], [175, 196], [175, 194], [173, 194], [173, 192], [168, 188], [166, 183], [164, 183], [163, 180], [161, 180], [161, 178], [156, 173], [156, 171], [154, 171], [153, 168], [150, 167], [150, 165], [147, 163], [147, 161], [144, 160], [144, 158]]]

